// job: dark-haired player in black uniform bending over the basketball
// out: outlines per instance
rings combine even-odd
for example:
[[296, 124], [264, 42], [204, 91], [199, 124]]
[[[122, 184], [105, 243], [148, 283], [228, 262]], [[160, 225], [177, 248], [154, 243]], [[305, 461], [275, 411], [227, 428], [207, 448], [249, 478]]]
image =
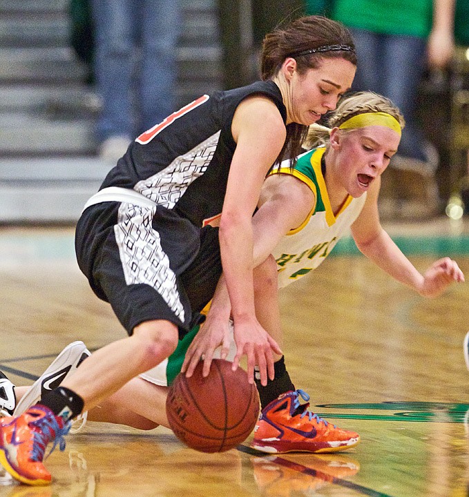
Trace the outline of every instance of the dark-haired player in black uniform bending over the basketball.
[[256, 318], [251, 217], [271, 166], [294, 163], [307, 126], [335, 108], [355, 68], [346, 28], [297, 19], [265, 38], [262, 81], [203, 95], [128, 147], [87, 202], [75, 237], [80, 269], [128, 337], [0, 422], [0, 462], [14, 478], [50, 483], [42, 462], [48, 442], [64, 447], [71, 418], [171, 355], [222, 270], [238, 350], [233, 368], [247, 355], [251, 381], [255, 366], [261, 384], [274, 379], [282, 351]]

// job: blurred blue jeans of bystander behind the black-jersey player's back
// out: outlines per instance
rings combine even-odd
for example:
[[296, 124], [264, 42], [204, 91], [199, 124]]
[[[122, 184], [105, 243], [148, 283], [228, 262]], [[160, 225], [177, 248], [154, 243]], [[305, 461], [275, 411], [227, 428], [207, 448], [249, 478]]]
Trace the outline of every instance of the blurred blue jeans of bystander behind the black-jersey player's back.
[[98, 138], [129, 139], [175, 109], [177, 0], [92, 0]]

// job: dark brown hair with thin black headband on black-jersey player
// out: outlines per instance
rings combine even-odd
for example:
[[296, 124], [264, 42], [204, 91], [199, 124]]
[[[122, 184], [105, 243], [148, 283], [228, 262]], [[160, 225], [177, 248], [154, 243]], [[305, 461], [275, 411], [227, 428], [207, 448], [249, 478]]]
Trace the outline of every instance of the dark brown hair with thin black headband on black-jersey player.
[[[314, 51], [318, 48], [320, 51]], [[262, 43], [261, 77], [263, 80], [274, 78], [287, 57], [296, 59], [300, 75], [308, 69], [319, 68], [323, 59], [334, 57], [350, 61], [356, 66], [354, 48], [352, 35], [343, 24], [322, 16], [300, 17], [285, 28], [278, 27], [265, 36]], [[303, 124], [287, 125], [287, 139], [276, 164], [288, 157], [291, 166], [294, 165], [307, 130], [308, 127]]]

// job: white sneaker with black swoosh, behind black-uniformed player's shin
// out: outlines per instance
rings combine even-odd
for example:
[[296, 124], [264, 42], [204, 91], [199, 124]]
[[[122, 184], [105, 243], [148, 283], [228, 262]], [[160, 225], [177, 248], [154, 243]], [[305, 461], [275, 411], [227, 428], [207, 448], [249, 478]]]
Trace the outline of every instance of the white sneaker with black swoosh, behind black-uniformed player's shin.
[[28, 407], [36, 404], [44, 393], [51, 391], [64, 381], [71, 373], [76, 371], [82, 362], [91, 355], [83, 342], [77, 341], [67, 347], [55, 358], [50, 366], [32, 384], [32, 387], [19, 400], [13, 416], [19, 416]]

